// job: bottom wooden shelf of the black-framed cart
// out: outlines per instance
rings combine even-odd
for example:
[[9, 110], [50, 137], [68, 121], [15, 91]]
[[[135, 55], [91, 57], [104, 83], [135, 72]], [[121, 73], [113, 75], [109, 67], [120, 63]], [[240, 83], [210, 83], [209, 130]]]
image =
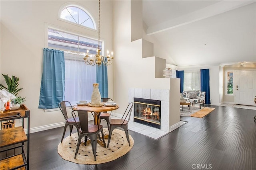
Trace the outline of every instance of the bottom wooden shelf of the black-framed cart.
[[[6, 158], [1, 160], [0, 170], [10, 170], [18, 166], [22, 166], [24, 164], [22, 154], [18, 154], [16, 156], [12, 156], [10, 158]], [[26, 170], [25, 166], [18, 168], [18, 170]]]

